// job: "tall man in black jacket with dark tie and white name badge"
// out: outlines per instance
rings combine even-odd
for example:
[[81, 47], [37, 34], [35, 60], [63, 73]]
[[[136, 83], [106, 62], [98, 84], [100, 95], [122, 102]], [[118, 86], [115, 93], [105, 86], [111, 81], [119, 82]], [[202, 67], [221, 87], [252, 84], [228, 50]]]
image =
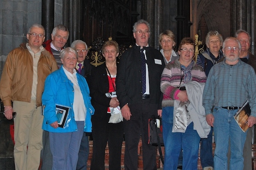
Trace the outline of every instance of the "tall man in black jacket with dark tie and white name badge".
[[116, 94], [124, 117], [126, 170], [138, 169], [138, 142], [142, 137], [143, 168], [156, 170], [156, 147], [148, 144], [148, 119], [162, 117], [160, 78], [164, 58], [148, 45], [150, 26], [139, 20], [133, 26], [136, 45], [125, 51], [116, 76]]

